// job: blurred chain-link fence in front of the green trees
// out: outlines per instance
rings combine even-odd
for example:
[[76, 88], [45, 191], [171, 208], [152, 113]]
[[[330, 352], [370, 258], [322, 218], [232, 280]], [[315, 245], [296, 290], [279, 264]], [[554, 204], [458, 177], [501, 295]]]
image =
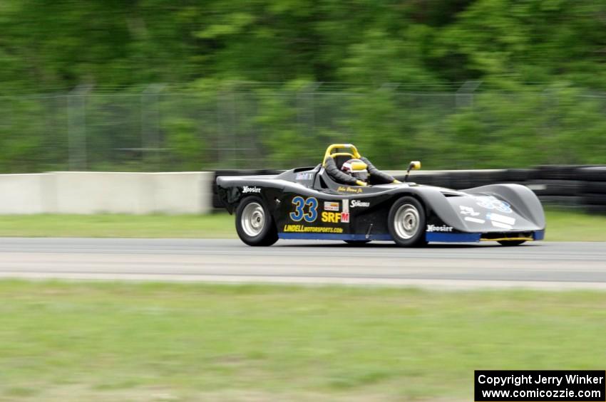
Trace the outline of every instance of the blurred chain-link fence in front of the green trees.
[[606, 163], [606, 94], [232, 85], [0, 97], [0, 170], [283, 169], [354, 142], [381, 167]]

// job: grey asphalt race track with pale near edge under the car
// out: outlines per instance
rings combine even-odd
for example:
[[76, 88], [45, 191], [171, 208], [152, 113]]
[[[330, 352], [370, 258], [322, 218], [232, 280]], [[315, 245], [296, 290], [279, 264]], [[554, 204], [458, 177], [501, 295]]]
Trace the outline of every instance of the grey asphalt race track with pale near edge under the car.
[[0, 277], [606, 289], [606, 243], [0, 238]]

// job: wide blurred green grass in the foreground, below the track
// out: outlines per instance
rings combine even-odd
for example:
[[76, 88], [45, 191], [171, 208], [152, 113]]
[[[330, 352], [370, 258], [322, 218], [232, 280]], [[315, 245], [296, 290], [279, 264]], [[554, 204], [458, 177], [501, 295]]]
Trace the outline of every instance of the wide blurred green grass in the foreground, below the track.
[[595, 369], [606, 293], [1, 281], [1, 401], [469, 401]]

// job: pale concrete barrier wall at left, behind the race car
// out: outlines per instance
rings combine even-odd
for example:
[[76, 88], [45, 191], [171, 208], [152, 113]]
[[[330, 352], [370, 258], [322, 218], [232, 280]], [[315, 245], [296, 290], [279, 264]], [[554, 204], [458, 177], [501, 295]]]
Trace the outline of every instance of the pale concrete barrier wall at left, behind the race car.
[[208, 213], [212, 172], [0, 175], [0, 213]]

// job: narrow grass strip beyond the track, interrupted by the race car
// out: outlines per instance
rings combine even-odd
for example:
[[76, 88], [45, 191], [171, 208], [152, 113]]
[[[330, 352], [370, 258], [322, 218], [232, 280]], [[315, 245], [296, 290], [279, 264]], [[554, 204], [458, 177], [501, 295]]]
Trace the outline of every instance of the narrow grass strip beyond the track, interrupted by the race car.
[[[549, 209], [546, 240], [606, 241], [606, 216]], [[236, 238], [234, 217], [210, 215], [4, 215], [0, 237]]]

